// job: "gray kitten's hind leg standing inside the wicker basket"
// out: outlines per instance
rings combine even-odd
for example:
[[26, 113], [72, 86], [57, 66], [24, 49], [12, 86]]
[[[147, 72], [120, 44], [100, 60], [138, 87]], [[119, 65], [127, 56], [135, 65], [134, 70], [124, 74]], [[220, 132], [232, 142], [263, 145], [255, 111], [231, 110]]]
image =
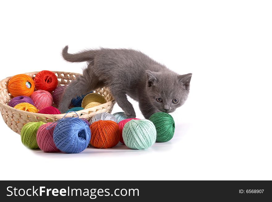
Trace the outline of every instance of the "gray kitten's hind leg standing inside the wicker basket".
[[84, 70], [83, 75], [78, 76], [67, 86], [59, 105], [60, 112], [65, 113], [69, 109], [71, 100], [74, 97], [87, 94], [91, 90], [100, 87], [100, 84], [96, 76], [90, 74], [87, 69]]

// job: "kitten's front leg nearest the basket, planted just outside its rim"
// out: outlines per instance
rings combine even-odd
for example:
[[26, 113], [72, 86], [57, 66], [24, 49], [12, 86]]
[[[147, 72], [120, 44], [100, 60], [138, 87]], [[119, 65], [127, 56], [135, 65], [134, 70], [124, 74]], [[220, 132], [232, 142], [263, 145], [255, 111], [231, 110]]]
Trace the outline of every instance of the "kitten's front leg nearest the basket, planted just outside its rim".
[[125, 91], [120, 87], [111, 87], [110, 88], [113, 97], [116, 99], [117, 104], [125, 112], [128, 118], [135, 118], [136, 114], [132, 104], [128, 101]]

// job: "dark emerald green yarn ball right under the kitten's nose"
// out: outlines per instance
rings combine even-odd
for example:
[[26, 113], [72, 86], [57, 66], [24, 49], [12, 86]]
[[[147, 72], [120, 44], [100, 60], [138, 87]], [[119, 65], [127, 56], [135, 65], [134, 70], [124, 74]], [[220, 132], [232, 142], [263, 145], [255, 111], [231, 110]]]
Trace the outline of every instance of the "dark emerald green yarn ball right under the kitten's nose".
[[172, 139], [175, 132], [175, 122], [170, 114], [157, 112], [149, 118], [155, 125], [157, 131], [157, 142], [167, 142]]

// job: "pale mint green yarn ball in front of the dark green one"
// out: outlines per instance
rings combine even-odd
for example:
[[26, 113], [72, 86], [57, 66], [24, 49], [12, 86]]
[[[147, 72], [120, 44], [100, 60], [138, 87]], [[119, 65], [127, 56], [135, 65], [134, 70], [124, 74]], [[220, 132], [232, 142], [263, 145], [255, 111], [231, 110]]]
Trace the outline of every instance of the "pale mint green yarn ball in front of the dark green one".
[[147, 119], [130, 120], [125, 124], [122, 135], [127, 147], [131, 149], [147, 149], [156, 141], [156, 128]]

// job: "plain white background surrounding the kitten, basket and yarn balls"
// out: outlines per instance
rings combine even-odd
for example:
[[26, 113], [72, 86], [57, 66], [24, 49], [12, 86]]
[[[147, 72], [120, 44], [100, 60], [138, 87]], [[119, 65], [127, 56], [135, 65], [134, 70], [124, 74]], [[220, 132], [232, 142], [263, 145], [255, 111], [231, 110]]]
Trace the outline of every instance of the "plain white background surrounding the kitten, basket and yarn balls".
[[173, 139], [147, 150], [49, 154], [24, 147], [1, 121], [0, 179], [272, 180], [271, 10], [270, 1], [1, 2], [1, 79], [81, 73], [84, 63], [61, 58], [65, 45], [70, 53], [138, 49], [193, 76], [187, 102], [172, 114]]

